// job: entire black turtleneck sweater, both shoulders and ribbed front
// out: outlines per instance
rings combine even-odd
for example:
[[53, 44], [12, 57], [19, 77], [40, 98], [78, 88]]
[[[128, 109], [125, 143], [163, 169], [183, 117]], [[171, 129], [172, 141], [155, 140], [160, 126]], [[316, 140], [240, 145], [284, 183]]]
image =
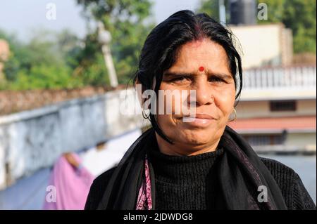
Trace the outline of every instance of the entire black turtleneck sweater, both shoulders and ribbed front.
[[[225, 206], [213, 206], [219, 197], [216, 173], [211, 167], [222, 155], [223, 149], [189, 157], [151, 150], [149, 159], [154, 166], [156, 209], [225, 209]], [[261, 161], [278, 183], [287, 209], [316, 209], [297, 173], [273, 159], [261, 158]], [[97, 209], [113, 170], [94, 180], [85, 209]]]

